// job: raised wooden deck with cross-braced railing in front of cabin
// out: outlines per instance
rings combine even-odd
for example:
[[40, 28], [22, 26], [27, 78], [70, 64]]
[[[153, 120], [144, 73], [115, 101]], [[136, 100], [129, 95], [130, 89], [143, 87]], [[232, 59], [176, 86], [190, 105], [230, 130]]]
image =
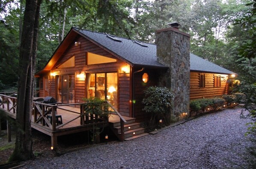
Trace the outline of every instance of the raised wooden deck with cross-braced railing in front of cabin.
[[[16, 118], [16, 100], [16, 97], [0, 95], [0, 109], [7, 116], [14, 119]], [[105, 120], [101, 120], [101, 117], [95, 115], [85, 117], [84, 112], [80, 109], [80, 105], [82, 103], [49, 105], [34, 102], [31, 127], [51, 136], [51, 146], [55, 148], [57, 147], [57, 136], [88, 131], [95, 129], [95, 126], [102, 128], [109, 126], [110, 123], [120, 123], [122, 126], [123, 123], [126, 123], [126, 120], [134, 119], [131, 117], [122, 117], [116, 110], [113, 111], [115, 113], [111, 113]], [[79, 106], [79, 108], [76, 106]], [[57, 112], [56, 115], [62, 117], [62, 124], [56, 123], [55, 114], [51, 113], [51, 111]], [[52, 123], [48, 119], [49, 114], [53, 116]]]

